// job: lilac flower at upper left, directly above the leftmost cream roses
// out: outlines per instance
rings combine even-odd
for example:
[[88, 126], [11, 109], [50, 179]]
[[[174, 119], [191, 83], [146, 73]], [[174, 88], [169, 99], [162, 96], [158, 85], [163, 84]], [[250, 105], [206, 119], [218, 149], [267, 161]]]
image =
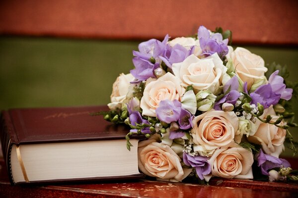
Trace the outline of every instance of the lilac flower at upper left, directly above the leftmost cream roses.
[[138, 79], [136, 82], [147, 80], [148, 78], [155, 78], [154, 70], [159, 67], [159, 63], [151, 63], [149, 60], [144, 60], [140, 57], [134, 57], [133, 63], [135, 69], [130, 70], [130, 73]]

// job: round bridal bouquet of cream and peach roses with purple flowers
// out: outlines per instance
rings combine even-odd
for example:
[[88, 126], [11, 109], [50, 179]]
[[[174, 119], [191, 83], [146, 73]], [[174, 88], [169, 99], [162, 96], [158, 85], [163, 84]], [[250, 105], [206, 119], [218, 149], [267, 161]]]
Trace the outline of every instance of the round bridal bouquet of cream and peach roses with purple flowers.
[[296, 126], [288, 101], [296, 84], [285, 81], [285, 68], [268, 69], [262, 57], [230, 43], [230, 31], [200, 26], [194, 37], [166, 35], [133, 51], [135, 68], [116, 79], [103, 114], [129, 125], [128, 149], [131, 136], [146, 137], [138, 146], [145, 175], [298, 180], [279, 158], [285, 140], [296, 153], [288, 131]]

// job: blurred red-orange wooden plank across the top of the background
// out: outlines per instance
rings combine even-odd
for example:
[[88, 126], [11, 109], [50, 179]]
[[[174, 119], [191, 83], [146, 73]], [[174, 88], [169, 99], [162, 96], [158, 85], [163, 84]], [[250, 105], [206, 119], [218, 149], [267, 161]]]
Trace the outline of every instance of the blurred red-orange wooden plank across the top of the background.
[[234, 44], [298, 46], [297, 0], [1, 0], [0, 34], [100, 39], [232, 30]]

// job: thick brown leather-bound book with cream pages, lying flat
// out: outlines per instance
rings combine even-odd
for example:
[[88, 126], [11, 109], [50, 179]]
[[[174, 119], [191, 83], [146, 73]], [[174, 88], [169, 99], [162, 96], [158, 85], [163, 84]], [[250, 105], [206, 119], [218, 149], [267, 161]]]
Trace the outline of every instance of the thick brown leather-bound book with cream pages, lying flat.
[[11, 184], [138, 179], [138, 139], [90, 113], [106, 106], [1, 112], [0, 139]]

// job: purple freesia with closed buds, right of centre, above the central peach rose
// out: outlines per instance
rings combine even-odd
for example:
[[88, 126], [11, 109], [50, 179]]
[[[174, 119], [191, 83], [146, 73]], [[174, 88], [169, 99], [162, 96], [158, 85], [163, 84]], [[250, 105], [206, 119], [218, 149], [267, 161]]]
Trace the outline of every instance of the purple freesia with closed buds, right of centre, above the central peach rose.
[[240, 97], [240, 93], [238, 92], [239, 88], [239, 81], [237, 76], [232, 77], [230, 80], [226, 82], [226, 84], [223, 87], [224, 93], [230, 89], [229, 93], [224, 95], [223, 98], [215, 102], [214, 109], [215, 110], [222, 110], [221, 105], [223, 103], [230, 103], [232, 105], [235, 105], [237, 99]]

